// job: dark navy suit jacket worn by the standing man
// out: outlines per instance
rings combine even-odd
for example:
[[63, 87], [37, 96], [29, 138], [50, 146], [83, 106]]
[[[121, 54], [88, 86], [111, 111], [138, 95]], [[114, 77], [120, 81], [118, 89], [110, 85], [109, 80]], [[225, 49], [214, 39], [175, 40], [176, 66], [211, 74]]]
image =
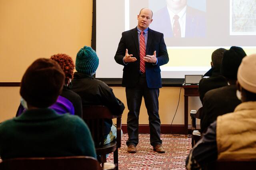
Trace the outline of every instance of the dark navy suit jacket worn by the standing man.
[[[123, 58], [128, 49], [128, 53], [132, 57], [136, 57], [137, 61], [130, 62], [127, 65], [123, 63]], [[122, 33], [122, 38], [119, 42], [116, 51], [115, 60], [118, 64], [124, 65], [123, 69], [123, 87], [135, 87], [140, 78], [140, 51], [138, 42], [138, 30], [132, 30]], [[162, 80], [160, 74], [160, 65], [168, 63], [169, 57], [164, 43], [164, 35], [160, 32], [148, 29], [148, 40], [146, 46], [146, 55], [153, 55], [156, 51], [158, 63], [153, 65], [146, 62], [146, 80], [148, 88], [156, 89], [162, 87]]]

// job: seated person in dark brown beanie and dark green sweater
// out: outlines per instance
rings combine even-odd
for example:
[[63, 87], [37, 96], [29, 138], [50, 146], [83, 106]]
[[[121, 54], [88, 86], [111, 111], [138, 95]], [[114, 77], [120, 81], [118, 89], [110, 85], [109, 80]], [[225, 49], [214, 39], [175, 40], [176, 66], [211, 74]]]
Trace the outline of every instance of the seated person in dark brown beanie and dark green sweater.
[[78, 116], [57, 114], [48, 107], [62, 92], [65, 74], [56, 61], [37, 59], [20, 86], [26, 111], [0, 124], [2, 160], [19, 157], [93, 156], [90, 130]]

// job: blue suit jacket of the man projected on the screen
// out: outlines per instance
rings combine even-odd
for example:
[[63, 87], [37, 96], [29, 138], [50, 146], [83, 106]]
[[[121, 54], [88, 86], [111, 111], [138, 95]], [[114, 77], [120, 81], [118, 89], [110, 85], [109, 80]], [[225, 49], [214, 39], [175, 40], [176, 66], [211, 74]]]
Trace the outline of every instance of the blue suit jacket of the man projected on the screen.
[[[185, 37], [204, 37], [206, 30], [206, 14], [187, 6]], [[153, 14], [150, 28], [162, 32], [165, 38], [173, 37], [172, 24], [167, 6]]]

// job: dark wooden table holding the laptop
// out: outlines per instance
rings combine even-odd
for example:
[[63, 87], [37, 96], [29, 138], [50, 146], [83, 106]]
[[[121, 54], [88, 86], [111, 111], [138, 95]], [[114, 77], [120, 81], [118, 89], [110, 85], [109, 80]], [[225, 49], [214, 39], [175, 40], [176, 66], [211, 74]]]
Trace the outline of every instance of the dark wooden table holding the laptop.
[[184, 88], [184, 134], [188, 134], [188, 97], [199, 96], [198, 85], [182, 85]]

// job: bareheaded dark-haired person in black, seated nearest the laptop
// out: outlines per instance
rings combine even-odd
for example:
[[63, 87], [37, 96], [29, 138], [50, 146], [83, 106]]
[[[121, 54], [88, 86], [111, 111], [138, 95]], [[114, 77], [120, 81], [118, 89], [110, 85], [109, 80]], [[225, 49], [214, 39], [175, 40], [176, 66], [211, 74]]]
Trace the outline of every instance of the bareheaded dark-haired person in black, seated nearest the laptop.
[[225, 77], [220, 74], [220, 64], [222, 61], [223, 53], [225, 51], [227, 50], [224, 48], [219, 48], [213, 51], [210, 77], [202, 78], [199, 82], [198, 91], [202, 103], [204, 99], [204, 94], [207, 91], [228, 85]]

